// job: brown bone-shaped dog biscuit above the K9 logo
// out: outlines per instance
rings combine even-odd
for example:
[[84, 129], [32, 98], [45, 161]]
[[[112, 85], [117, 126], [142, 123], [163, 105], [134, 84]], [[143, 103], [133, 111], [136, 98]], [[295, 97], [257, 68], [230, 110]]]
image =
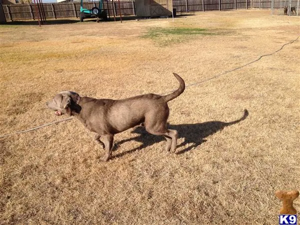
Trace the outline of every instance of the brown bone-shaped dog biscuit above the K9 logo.
[[275, 195], [282, 201], [282, 207], [279, 210], [279, 214], [294, 215], [297, 213], [297, 210], [292, 206], [292, 201], [299, 196], [299, 191], [277, 190]]

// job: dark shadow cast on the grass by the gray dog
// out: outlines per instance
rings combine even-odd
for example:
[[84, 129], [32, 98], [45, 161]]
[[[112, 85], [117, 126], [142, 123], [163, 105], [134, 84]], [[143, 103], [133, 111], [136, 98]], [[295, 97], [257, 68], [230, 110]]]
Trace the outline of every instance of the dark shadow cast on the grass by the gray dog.
[[[231, 122], [222, 122], [222, 121], [208, 121], [208, 122], [202, 122], [202, 123], [194, 123], [194, 124], [177, 124], [177, 125], [168, 125], [168, 128], [170, 129], [175, 129], [178, 131], [178, 138], [183, 137], [184, 141], [177, 145], [178, 147], [184, 146], [186, 144], [190, 144], [188, 147], [185, 149], [176, 151], [177, 154], [182, 154], [186, 151], [191, 150], [192, 148], [200, 145], [201, 143], [205, 142], [206, 140], [204, 139], [207, 136], [212, 135], [213, 133], [222, 130], [226, 126], [233, 125], [235, 123], [238, 123], [242, 120], [244, 120], [248, 116], [248, 111], [247, 109], [244, 109], [244, 114], [241, 118], [231, 121]], [[124, 142], [130, 141], [130, 140], [135, 140], [138, 142], [141, 142], [141, 145], [133, 148], [131, 150], [117, 153], [112, 157], [120, 157], [124, 154], [134, 152], [136, 150], [140, 150], [144, 147], [150, 146], [154, 143], [157, 143], [161, 140], [165, 140], [162, 136], [156, 136], [148, 133], [143, 126], [136, 126], [132, 133], [137, 133], [139, 134], [138, 136], [131, 137], [128, 139], [124, 139], [121, 141], [118, 141], [117, 143], [114, 144], [112, 150], [116, 150], [117, 146], [119, 144], [122, 144]]]

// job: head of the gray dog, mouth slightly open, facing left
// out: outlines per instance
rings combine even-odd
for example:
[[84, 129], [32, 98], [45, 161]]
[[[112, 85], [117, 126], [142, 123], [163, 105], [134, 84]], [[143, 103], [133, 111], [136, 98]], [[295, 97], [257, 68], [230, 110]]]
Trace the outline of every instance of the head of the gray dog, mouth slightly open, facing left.
[[68, 114], [71, 116], [73, 110], [78, 110], [80, 108], [78, 105], [79, 99], [79, 94], [65, 90], [56, 94], [51, 101], [46, 103], [46, 105], [49, 109], [55, 111], [55, 115]]

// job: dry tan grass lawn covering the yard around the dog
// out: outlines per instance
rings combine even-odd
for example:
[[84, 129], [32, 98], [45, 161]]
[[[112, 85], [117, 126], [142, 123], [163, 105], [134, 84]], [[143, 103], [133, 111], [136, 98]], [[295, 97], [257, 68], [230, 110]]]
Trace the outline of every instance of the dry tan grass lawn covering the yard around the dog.
[[[153, 27], [217, 34], [144, 38]], [[45, 101], [60, 90], [124, 98], [177, 87], [171, 72], [207, 79], [295, 39], [299, 19], [238, 10], [0, 33], [2, 135], [58, 119]], [[299, 49], [297, 40], [169, 102], [179, 154], [137, 127], [115, 136], [104, 163], [76, 120], [1, 138], [0, 223], [277, 224], [274, 191], [300, 189]], [[225, 126], [244, 108], [245, 120]]]

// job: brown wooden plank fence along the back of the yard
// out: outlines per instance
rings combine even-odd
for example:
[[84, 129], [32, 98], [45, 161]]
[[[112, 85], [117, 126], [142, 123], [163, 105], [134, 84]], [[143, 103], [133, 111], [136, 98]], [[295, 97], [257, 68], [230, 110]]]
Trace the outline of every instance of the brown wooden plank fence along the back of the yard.
[[[288, 0], [285, 0], [288, 2]], [[292, 0], [297, 2], [297, 0]], [[273, 8], [282, 8], [284, 0], [274, 0]], [[98, 6], [95, 2], [83, 2], [84, 8]], [[13, 4], [2, 5], [6, 20], [24, 20], [38, 18], [36, 4]], [[118, 1], [104, 0], [104, 8], [109, 17], [119, 15]], [[271, 8], [271, 0], [173, 0], [173, 8], [177, 13], [186, 13], [191, 11], [205, 10], [231, 10], [231, 9], [248, 9], [248, 8]], [[78, 17], [80, 14], [80, 2], [64, 3], [43, 3], [43, 9], [46, 18], [65, 18]], [[120, 11], [122, 15], [134, 15], [135, 4], [133, 0], [120, 1]]]

